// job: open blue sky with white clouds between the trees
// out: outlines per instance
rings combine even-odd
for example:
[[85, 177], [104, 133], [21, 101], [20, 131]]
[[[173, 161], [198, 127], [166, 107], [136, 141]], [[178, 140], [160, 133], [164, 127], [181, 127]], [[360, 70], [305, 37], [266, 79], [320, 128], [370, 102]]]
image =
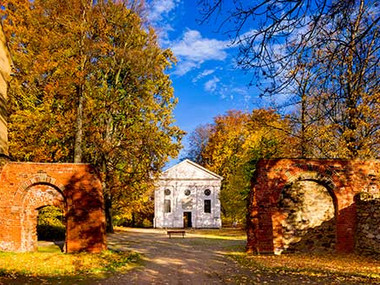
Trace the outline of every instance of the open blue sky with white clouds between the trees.
[[[169, 71], [179, 99], [174, 115], [176, 124], [188, 134], [227, 110], [250, 111], [262, 104], [259, 91], [248, 87], [253, 75], [236, 68], [237, 49], [231, 46], [228, 36], [217, 32], [217, 23], [199, 24], [201, 14], [196, 2], [148, 3], [148, 19], [159, 35], [161, 46], [170, 48], [178, 60]], [[186, 138], [184, 146], [181, 155], [186, 152]]]

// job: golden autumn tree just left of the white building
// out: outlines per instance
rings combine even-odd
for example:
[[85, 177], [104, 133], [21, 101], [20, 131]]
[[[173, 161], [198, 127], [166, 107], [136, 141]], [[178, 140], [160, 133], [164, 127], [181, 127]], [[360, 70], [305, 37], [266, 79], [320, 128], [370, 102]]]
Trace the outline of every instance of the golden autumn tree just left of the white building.
[[[135, 13], [109, 3], [97, 8], [106, 15], [96, 23], [104, 27], [98, 40], [104, 43], [104, 54], [91, 74], [99, 85], [86, 113], [99, 116], [89, 122], [86, 153], [105, 181], [112, 182], [104, 185], [106, 202], [115, 201], [114, 212], [132, 218], [144, 212], [143, 205], [149, 208], [146, 193], [168, 156], [179, 151], [182, 131], [172, 126], [176, 100], [165, 74], [173, 56], [160, 49], [154, 31], [145, 31]], [[108, 54], [112, 60], [102, 60]]]

